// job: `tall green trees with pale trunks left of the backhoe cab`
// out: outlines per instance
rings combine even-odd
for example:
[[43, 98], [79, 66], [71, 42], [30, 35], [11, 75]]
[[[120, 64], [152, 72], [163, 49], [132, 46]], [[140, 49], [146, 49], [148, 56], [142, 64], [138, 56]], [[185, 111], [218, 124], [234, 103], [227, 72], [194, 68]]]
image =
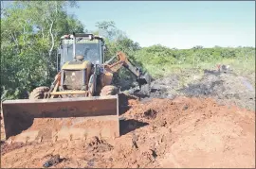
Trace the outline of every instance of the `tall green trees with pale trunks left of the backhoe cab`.
[[[60, 37], [83, 32], [83, 25], [66, 13], [64, 1], [16, 1], [1, 19], [1, 95], [24, 98], [23, 93], [49, 85], [56, 74]], [[5, 92], [8, 91], [8, 92]]]

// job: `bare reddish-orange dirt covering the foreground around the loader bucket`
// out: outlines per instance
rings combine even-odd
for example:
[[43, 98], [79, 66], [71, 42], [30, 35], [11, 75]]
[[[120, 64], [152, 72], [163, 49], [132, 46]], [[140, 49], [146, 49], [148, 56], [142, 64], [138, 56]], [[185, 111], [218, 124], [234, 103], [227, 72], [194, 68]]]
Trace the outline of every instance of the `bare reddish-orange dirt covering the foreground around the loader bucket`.
[[[56, 168], [255, 167], [254, 111], [186, 97], [128, 103], [121, 137], [9, 148], [1, 167], [41, 168], [56, 154], [61, 156]], [[11, 144], [1, 150], [4, 146]]]

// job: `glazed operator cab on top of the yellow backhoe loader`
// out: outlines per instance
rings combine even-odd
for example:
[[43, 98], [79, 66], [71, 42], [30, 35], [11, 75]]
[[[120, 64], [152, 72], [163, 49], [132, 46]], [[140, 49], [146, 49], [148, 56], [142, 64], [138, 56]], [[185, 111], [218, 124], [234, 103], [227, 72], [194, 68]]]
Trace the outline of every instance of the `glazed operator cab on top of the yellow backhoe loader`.
[[60, 61], [59, 57], [57, 58], [57, 64], [60, 65], [57, 71], [66, 61], [88, 60], [93, 64], [101, 65], [104, 62], [104, 49], [105, 43], [99, 36], [83, 33], [64, 35], [59, 48]]

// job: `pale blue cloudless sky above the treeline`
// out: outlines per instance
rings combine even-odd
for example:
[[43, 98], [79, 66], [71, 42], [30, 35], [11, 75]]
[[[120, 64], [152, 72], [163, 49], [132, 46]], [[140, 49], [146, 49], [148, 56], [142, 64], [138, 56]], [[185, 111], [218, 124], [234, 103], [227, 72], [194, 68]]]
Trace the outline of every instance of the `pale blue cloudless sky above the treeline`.
[[68, 13], [87, 29], [114, 21], [142, 47], [255, 46], [254, 1], [79, 1], [78, 5], [67, 8]]

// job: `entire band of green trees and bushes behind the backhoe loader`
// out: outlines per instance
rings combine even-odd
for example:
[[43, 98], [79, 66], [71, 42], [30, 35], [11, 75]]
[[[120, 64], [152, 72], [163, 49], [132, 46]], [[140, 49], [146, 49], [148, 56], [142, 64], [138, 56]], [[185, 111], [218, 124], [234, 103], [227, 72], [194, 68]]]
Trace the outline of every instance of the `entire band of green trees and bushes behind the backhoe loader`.
[[[49, 86], [56, 75], [59, 41], [66, 33], [88, 32], [84, 25], [68, 15], [65, 7], [76, 8], [74, 2], [18, 1], [1, 8], [1, 99], [26, 98], [38, 86]], [[229, 63], [240, 72], [255, 72], [255, 48], [171, 49], [162, 45], [140, 47], [119, 30], [115, 23], [96, 23], [106, 38], [107, 59], [123, 51], [129, 59], [153, 77], [165, 76], [185, 68], [212, 68]], [[121, 69], [115, 83], [131, 81], [131, 74]]]

